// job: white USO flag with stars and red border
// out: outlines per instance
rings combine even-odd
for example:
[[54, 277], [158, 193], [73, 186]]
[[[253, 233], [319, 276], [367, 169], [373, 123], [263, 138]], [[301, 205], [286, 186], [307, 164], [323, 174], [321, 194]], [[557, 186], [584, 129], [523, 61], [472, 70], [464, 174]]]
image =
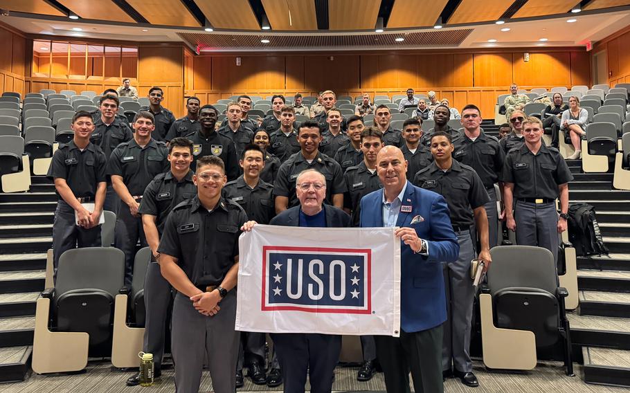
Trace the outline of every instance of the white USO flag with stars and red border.
[[257, 224], [239, 257], [237, 330], [399, 336], [394, 228]]

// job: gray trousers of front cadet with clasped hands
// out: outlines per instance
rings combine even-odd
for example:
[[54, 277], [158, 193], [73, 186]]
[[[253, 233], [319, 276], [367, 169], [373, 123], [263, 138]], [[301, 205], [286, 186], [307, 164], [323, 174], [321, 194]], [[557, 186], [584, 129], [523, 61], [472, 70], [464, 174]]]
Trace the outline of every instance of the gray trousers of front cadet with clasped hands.
[[186, 295], [177, 293], [173, 304], [172, 354], [178, 393], [197, 393], [201, 370], [208, 354], [208, 369], [215, 393], [236, 390], [236, 360], [239, 332], [236, 321], [236, 289], [219, 303], [216, 316], [203, 316]]

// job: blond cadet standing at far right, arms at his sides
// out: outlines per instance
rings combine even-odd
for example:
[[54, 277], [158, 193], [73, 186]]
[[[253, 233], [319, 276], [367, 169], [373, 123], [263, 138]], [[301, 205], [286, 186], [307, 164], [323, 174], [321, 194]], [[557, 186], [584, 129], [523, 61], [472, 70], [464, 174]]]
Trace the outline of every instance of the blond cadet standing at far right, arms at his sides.
[[[558, 260], [558, 234], [566, 230], [568, 182], [573, 174], [560, 152], [542, 143], [543, 125], [538, 118], [523, 122], [525, 143], [505, 158], [501, 180], [507, 228], [516, 230], [516, 243], [547, 248]], [[514, 197], [514, 200], [512, 200]], [[555, 199], [560, 199], [560, 218]], [[512, 214], [514, 201], [514, 214]]]

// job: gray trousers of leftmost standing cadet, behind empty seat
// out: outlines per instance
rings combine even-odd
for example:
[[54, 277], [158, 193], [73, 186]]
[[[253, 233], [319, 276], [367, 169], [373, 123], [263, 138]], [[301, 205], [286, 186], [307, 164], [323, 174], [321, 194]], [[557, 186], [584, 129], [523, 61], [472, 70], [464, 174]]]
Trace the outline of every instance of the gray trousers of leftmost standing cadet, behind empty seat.
[[57, 201], [55, 219], [53, 221], [53, 266], [55, 277], [59, 257], [71, 248], [100, 247], [100, 225], [85, 229], [77, 225], [74, 209], [60, 199]]

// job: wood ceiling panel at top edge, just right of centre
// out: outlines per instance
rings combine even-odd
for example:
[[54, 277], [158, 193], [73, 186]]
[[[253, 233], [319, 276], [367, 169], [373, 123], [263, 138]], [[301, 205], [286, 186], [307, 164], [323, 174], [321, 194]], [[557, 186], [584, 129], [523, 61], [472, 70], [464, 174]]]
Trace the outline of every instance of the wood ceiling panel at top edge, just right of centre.
[[376, 24], [380, 7], [381, 0], [328, 0], [328, 28], [372, 29]]

